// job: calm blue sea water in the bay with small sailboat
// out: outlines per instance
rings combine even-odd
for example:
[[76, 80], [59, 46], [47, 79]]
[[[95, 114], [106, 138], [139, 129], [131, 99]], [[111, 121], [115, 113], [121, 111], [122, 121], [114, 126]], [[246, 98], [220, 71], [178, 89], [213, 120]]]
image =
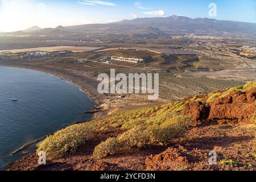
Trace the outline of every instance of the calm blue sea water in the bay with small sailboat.
[[[11, 98], [18, 101], [11, 101]], [[58, 77], [19, 68], [0, 67], [0, 166], [32, 152], [24, 144], [91, 119], [94, 102], [79, 88]]]

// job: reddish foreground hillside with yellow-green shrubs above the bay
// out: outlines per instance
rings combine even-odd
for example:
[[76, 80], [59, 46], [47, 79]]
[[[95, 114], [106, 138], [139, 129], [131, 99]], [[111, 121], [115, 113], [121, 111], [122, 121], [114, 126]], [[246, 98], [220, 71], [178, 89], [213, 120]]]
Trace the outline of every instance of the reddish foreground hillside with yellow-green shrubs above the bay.
[[[256, 82], [72, 125], [9, 170], [255, 170]], [[249, 150], [248, 150], [249, 149]], [[209, 152], [217, 152], [209, 165]]]

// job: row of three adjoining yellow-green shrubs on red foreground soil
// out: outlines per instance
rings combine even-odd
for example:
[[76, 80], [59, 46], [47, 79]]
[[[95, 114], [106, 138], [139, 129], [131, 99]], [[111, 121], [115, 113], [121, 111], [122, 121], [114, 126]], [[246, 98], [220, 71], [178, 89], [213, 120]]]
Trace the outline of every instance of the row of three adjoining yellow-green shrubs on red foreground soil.
[[117, 138], [110, 138], [98, 145], [93, 156], [105, 158], [108, 155], [117, 154], [121, 150], [142, 148], [148, 144], [167, 143], [172, 138], [178, 138], [185, 134], [191, 125], [192, 119], [186, 115], [176, 115], [162, 124], [148, 126], [135, 126], [129, 131], [119, 135]]

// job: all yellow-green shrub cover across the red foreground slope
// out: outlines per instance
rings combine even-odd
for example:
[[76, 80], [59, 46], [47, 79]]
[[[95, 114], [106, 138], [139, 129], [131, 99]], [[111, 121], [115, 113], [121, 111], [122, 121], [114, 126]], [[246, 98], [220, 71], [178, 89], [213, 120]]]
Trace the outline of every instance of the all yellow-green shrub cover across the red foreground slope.
[[[245, 92], [255, 87], [255, 83], [237, 86], [221, 93], [216, 90], [208, 97], [193, 97], [190, 101], [212, 102], [220, 97], [226, 97], [234, 91]], [[45, 151], [48, 159], [55, 159], [76, 151], [86, 140], [92, 138], [94, 131], [109, 131], [115, 129], [125, 132], [117, 138], [109, 138], [94, 150], [94, 158], [104, 158], [117, 154], [126, 148], [141, 148], [148, 144], [164, 144], [172, 138], [179, 138], [185, 134], [192, 119], [182, 115], [188, 101], [176, 101], [170, 104], [146, 107], [137, 110], [120, 111], [93, 121], [69, 126], [57, 131], [38, 144], [37, 152]], [[256, 113], [249, 116], [251, 122], [256, 123]], [[225, 164], [225, 162], [222, 162]]]

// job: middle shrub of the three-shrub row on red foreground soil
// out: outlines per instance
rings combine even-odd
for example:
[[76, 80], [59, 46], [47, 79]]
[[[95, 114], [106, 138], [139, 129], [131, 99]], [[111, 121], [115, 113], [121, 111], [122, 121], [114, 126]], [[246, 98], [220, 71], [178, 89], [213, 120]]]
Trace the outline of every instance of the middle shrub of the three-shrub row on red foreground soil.
[[118, 137], [124, 147], [143, 147], [150, 142], [150, 134], [144, 126], [136, 126]]

